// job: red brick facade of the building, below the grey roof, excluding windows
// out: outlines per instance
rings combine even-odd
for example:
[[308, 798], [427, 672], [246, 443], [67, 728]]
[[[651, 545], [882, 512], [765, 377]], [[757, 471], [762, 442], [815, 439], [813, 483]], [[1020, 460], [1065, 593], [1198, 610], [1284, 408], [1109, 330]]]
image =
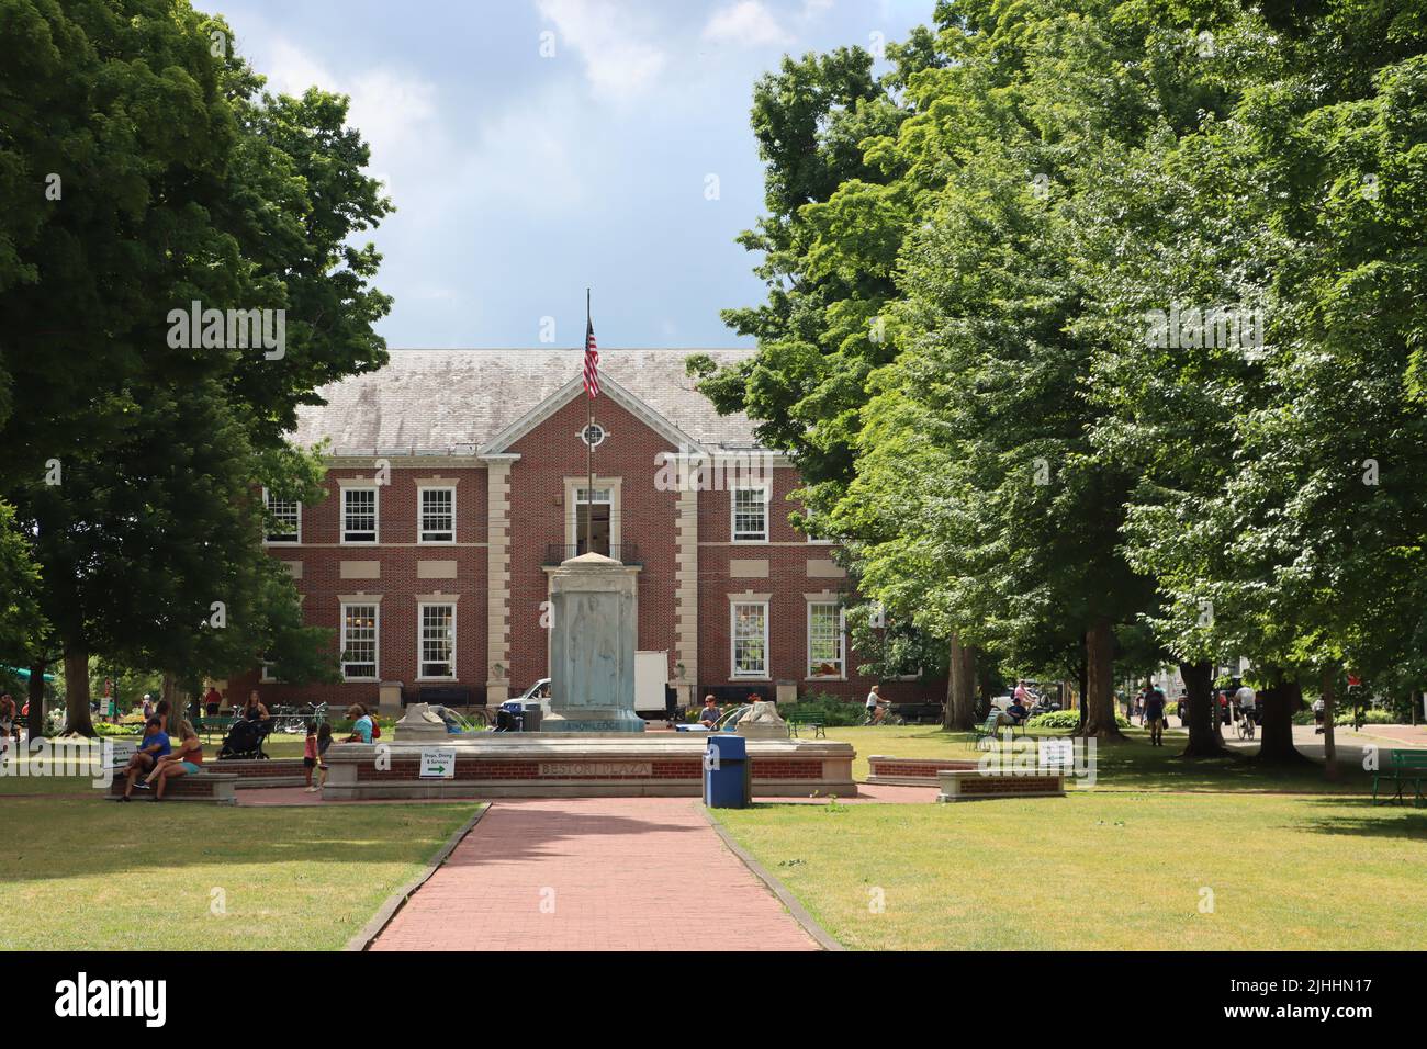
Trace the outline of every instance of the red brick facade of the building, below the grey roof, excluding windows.
[[[843, 675], [815, 678], [809, 672], [809, 595], [849, 595], [846, 579], [832, 562], [833, 548], [808, 542], [788, 521], [795, 504], [786, 497], [799, 485], [796, 471], [778, 457], [763, 460], [771, 462], [765, 475], [772, 488], [768, 538], [733, 542], [733, 497], [728, 488], [705, 488], [695, 495], [661, 490], [664, 457], [681, 452], [675, 437], [679, 420], [666, 420], [628, 397], [605, 395], [594, 408], [606, 431], [594, 455], [595, 488], [614, 492], [611, 544], [621, 547], [625, 564], [638, 575], [636, 648], [669, 654], [669, 681], [686, 701], [709, 688], [733, 686], [772, 698], [779, 682], [795, 685], [799, 695], [818, 691], [860, 701], [875, 682], [856, 674], [862, 659], [846, 651], [846, 639]], [[273, 557], [293, 562], [305, 621], [335, 631], [344, 597], [364, 595], [361, 601], [378, 604], [377, 678], [400, 681], [408, 692], [427, 684], [455, 684], [471, 689], [475, 702], [495, 702], [507, 691], [517, 694], [547, 676], [542, 602], [549, 568], [558, 562], [555, 555], [574, 541], [572, 492], [577, 485], [585, 487], [585, 445], [579, 440], [585, 411], [577, 388], [574, 397], [567, 392], [547, 398], [529, 412], [528, 425], [508, 434], [499, 447], [450, 455], [418, 452], [382, 460], [378, 452], [330, 460], [328, 498], [303, 507], [300, 542], [270, 547]], [[344, 544], [341, 482], [370, 481], [380, 462], [390, 464], [390, 482], [378, 488], [378, 542]], [[499, 494], [507, 471], [508, 511]], [[418, 542], [418, 482], [454, 484], [455, 542]], [[504, 535], [497, 527], [504, 527]], [[502, 571], [495, 539], [505, 537], [508, 569]], [[418, 595], [435, 594], [457, 609], [454, 682], [424, 682], [417, 676]], [[731, 595], [741, 594], [768, 602], [765, 675], [732, 674]], [[505, 661], [492, 659], [492, 651], [507, 652]], [[258, 684], [257, 678], [254, 672], [230, 682], [230, 696], [257, 686], [270, 704], [374, 705], [378, 694], [377, 681], [290, 686]], [[940, 699], [945, 688], [899, 681], [886, 682], [882, 692], [892, 699]]]

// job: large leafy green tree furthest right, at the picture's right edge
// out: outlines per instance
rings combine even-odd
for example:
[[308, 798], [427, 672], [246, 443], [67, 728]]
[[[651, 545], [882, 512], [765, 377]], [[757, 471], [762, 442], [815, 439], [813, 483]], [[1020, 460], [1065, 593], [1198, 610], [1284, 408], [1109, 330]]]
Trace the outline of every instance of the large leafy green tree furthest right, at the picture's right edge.
[[1326, 7], [1220, 27], [1230, 118], [1107, 158], [1080, 224], [1112, 347], [1097, 441], [1142, 470], [1132, 561], [1182, 658], [1253, 661], [1274, 762], [1300, 759], [1304, 684], [1416, 661], [1423, 637], [1423, 27]]

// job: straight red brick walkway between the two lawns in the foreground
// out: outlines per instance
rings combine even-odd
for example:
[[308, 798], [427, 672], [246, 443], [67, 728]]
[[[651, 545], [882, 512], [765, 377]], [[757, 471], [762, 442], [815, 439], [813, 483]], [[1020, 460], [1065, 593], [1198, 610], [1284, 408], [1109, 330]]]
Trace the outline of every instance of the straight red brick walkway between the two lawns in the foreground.
[[372, 951], [813, 951], [692, 798], [497, 801]]

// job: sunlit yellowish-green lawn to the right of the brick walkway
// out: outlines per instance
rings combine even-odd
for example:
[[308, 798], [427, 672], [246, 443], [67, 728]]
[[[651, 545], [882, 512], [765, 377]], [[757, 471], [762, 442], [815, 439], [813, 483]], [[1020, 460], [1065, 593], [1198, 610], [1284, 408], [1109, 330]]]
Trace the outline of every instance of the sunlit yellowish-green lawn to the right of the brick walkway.
[[718, 818], [853, 949], [1427, 942], [1427, 809], [1072, 791], [960, 805], [758, 805]]

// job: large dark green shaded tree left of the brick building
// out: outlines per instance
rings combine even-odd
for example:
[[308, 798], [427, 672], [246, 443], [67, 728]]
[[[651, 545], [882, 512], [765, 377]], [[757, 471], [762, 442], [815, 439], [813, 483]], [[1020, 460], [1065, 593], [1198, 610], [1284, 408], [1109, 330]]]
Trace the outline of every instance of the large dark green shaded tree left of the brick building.
[[[345, 98], [263, 93], [183, 0], [0, 0], [0, 392], [23, 395], [0, 495], [84, 732], [90, 654], [193, 678], [320, 648], [255, 500], [297, 407], [385, 361], [380, 258], [350, 241], [390, 203]], [[285, 337], [176, 331], [191, 303]]]

